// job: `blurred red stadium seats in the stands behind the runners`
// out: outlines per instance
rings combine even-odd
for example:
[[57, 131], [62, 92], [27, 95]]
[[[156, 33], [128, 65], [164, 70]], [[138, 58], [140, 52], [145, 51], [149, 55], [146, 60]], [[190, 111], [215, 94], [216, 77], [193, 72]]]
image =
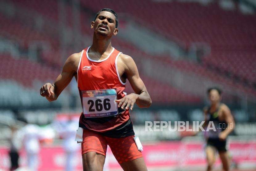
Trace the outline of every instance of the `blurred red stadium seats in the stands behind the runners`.
[[[53, 81], [60, 73], [67, 56], [77, 52], [74, 49], [81, 50], [89, 46], [88, 39], [92, 34], [89, 29], [90, 21], [93, 20], [93, 15], [105, 6], [103, 1], [98, 2], [80, 2], [80, 15], [77, 18], [82, 21], [78, 29], [81, 31], [81, 39], [74, 43], [76, 35], [73, 35], [72, 31], [76, 28], [72, 1], [1, 1], [2, 42], [11, 42], [19, 54], [10, 54], [12, 49], [8, 48], [1, 50], [3, 70], [0, 77], [28, 87], [32, 87], [35, 79], [40, 82]], [[246, 97], [255, 100], [255, 15], [245, 15], [236, 8], [224, 10], [217, 2], [200, 4], [142, 0], [128, 3], [114, 0], [108, 5], [121, 14], [121, 29], [129, 18], [138, 25], [146, 26], [147, 29], [176, 42], [184, 51], [188, 51], [196, 42], [210, 46], [211, 52], [198, 54], [196, 61], [191, 60], [189, 54], [183, 54], [176, 60], [167, 54], [151, 54], [124, 38], [114, 38], [114, 46], [134, 58], [156, 104], [201, 104], [205, 99], [205, 90], [200, 90], [199, 93], [196, 89], [200, 82], [202, 88], [206, 89], [209, 86], [205, 83], [206, 80], [226, 90], [224, 99], [235, 101], [246, 94]], [[154, 12], [150, 9], [154, 9]], [[60, 15], [61, 10], [64, 10], [65, 14]], [[170, 14], [166, 11], [170, 11]], [[145, 60], [151, 64], [157, 62], [158, 69], [147, 71]], [[158, 76], [159, 65], [171, 69], [161, 70], [164, 79]], [[20, 72], [20, 67], [23, 72]], [[191, 82], [185, 79], [183, 83], [177, 83], [173, 77], [167, 78], [170, 71], [179, 71], [184, 78], [193, 74], [193, 77], [199, 78], [200, 81]], [[193, 88], [182, 84], [190, 84]], [[155, 87], [159, 87], [159, 91], [163, 92], [155, 92]], [[127, 86], [127, 91], [132, 91], [130, 86]]]

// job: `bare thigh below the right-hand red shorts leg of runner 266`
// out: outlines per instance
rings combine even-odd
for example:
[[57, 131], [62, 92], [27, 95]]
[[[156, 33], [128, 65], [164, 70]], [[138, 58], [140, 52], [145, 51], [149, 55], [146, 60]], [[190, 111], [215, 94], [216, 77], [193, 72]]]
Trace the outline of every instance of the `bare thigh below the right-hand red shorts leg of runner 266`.
[[120, 165], [124, 171], [147, 171], [143, 157], [123, 162]]

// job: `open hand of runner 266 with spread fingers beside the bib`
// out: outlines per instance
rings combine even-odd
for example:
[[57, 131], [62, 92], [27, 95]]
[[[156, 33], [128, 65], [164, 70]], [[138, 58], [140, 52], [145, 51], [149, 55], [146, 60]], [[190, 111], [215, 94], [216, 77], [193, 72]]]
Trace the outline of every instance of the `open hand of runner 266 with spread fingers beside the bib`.
[[128, 110], [129, 107], [130, 109], [132, 110], [133, 109], [133, 106], [134, 106], [134, 103], [136, 102], [136, 100], [138, 99], [138, 94], [135, 94], [135, 93], [131, 93], [119, 100], [116, 100], [116, 102], [118, 102], [118, 107], [121, 106], [122, 109], [126, 109]]

